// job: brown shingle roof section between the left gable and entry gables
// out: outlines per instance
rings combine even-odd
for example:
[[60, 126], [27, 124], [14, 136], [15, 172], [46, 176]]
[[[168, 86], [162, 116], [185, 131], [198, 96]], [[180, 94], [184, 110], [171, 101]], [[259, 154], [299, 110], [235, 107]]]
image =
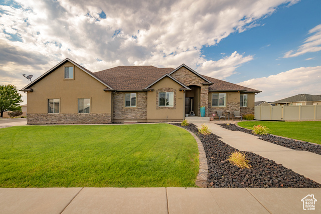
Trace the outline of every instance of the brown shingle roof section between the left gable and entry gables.
[[118, 91], [142, 90], [173, 70], [154, 66], [118, 66], [95, 72], [94, 75]]

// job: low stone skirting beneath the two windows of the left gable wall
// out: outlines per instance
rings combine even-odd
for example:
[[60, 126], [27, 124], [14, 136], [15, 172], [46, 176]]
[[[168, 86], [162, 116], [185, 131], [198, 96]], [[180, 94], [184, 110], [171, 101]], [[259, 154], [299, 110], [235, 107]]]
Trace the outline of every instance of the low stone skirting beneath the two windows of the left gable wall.
[[27, 124], [106, 124], [111, 123], [111, 115], [89, 114], [27, 114]]

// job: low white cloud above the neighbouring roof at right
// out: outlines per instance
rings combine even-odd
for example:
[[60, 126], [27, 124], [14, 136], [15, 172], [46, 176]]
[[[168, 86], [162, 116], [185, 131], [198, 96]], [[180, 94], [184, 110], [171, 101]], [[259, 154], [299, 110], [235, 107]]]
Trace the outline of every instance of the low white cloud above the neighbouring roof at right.
[[239, 85], [262, 91], [256, 101], [276, 101], [296, 94], [321, 94], [321, 66], [301, 67], [268, 77], [247, 80]]

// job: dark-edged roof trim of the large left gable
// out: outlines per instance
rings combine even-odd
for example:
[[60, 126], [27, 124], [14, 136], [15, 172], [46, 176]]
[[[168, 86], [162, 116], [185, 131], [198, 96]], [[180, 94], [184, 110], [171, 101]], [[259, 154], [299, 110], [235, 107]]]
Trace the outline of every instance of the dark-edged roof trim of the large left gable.
[[[60, 66], [62, 66], [63, 64], [65, 64], [66, 62], [70, 62], [72, 64], [74, 64], [75, 66], [77, 66], [79, 69], [81, 69], [82, 71], [84, 71], [85, 73], [87, 73], [89, 76], [93, 77], [94, 79], [96, 79], [97, 81], [99, 81], [100, 83], [102, 83], [103, 85], [105, 85], [106, 87], [108, 87], [109, 89], [112, 89], [109, 85], [107, 85], [104, 81], [102, 81], [100, 78], [96, 77], [91, 71], [89, 71], [88, 69], [82, 67], [81, 65], [77, 64], [76, 62], [66, 58], [63, 61], [61, 61], [60, 63], [58, 63], [56, 66], [54, 66], [53, 68], [51, 68], [49, 71], [47, 71], [46, 73], [44, 73], [43, 75], [41, 75], [40, 77], [38, 77], [36, 80], [34, 80], [33, 82], [31, 82], [30, 84], [28, 84], [27, 86], [25, 86], [23, 89], [21, 89], [20, 91], [32, 91], [32, 89], [30, 88], [31, 86], [35, 85], [37, 82], [39, 82], [40, 80], [42, 80], [43, 78], [45, 78], [46, 76], [48, 76], [50, 73], [52, 73], [53, 71], [55, 71], [57, 68], [59, 68]], [[31, 89], [31, 90], [30, 90]]]

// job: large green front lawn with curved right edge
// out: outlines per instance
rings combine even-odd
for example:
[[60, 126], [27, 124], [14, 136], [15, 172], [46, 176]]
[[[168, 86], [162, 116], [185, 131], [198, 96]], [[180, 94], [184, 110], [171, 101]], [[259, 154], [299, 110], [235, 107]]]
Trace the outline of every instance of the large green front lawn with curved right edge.
[[193, 187], [198, 147], [170, 124], [0, 129], [0, 187]]

